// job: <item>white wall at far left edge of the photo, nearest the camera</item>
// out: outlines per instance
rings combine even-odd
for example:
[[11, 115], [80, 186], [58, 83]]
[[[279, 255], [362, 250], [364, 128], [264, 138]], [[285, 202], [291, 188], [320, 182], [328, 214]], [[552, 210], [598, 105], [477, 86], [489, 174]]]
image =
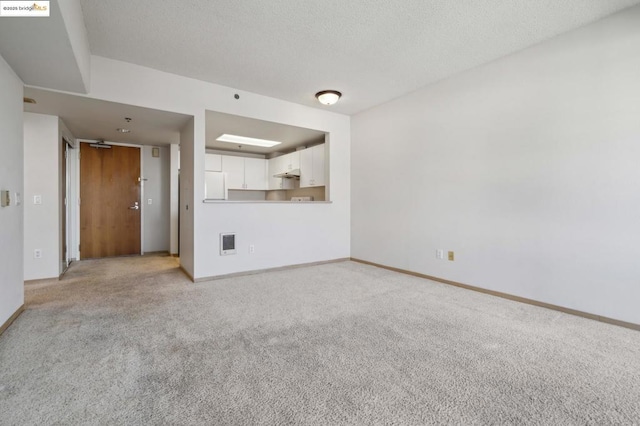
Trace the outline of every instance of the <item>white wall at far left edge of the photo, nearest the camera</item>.
[[[0, 189], [22, 195], [22, 81], [0, 56]], [[0, 207], [0, 325], [24, 303], [23, 206]]]

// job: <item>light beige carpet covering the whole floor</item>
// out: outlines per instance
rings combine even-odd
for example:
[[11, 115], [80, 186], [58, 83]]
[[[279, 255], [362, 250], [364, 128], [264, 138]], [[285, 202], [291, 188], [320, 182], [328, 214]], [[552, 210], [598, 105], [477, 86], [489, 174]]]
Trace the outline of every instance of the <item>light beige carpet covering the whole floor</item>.
[[354, 262], [26, 286], [0, 424], [639, 424], [640, 333]]

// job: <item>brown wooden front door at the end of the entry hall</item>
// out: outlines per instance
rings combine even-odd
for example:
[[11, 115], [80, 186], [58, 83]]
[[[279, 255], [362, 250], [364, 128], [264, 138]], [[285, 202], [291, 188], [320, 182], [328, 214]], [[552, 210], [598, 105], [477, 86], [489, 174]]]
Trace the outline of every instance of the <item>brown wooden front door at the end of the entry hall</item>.
[[80, 258], [140, 254], [140, 149], [80, 144]]

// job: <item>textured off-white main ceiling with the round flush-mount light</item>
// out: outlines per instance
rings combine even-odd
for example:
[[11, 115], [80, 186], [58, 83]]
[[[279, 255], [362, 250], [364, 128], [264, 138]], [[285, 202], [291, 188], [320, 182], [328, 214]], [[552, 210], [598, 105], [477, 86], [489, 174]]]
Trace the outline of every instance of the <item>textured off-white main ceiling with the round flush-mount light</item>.
[[353, 114], [640, 0], [81, 0], [94, 55]]

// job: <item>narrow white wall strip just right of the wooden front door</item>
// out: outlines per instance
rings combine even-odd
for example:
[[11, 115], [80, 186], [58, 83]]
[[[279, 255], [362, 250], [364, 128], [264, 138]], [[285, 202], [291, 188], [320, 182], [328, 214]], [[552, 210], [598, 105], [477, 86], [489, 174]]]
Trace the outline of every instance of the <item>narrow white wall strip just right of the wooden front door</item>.
[[[143, 199], [142, 235], [145, 252], [169, 251], [169, 148], [142, 147]], [[151, 204], [149, 204], [151, 200]]]

